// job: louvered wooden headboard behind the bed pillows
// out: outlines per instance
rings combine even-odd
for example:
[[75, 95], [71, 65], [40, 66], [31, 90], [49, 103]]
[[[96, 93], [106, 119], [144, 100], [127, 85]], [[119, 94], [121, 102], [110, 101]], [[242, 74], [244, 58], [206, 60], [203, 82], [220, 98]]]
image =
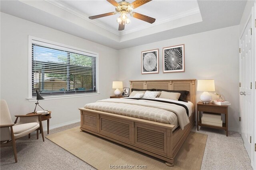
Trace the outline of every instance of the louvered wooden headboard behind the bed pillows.
[[195, 106], [195, 81], [196, 79], [185, 80], [130, 80], [130, 90], [137, 89], [164, 89], [164, 90], [186, 90], [188, 94], [186, 100]]

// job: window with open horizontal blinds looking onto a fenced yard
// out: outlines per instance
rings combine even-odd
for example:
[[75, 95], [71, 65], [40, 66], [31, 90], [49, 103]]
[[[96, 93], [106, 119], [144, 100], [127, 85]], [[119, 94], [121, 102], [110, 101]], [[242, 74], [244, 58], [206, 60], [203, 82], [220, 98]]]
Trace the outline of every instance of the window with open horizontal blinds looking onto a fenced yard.
[[29, 98], [97, 93], [98, 55], [55, 44], [31, 39]]

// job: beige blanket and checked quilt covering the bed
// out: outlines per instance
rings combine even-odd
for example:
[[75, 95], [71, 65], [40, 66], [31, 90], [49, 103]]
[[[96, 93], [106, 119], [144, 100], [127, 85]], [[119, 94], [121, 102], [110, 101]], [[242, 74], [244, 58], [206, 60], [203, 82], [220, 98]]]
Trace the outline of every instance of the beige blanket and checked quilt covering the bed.
[[[176, 104], [160, 103], [149, 100], [134, 100], [128, 98], [104, 99], [96, 103], [86, 104], [86, 109], [93, 109], [98, 111], [105, 111], [130, 117], [137, 117], [161, 123], [168, 123], [175, 125], [183, 130], [189, 123], [186, 109]], [[175, 113], [175, 114], [174, 114]], [[175, 122], [178, 117], [178, 122]]]

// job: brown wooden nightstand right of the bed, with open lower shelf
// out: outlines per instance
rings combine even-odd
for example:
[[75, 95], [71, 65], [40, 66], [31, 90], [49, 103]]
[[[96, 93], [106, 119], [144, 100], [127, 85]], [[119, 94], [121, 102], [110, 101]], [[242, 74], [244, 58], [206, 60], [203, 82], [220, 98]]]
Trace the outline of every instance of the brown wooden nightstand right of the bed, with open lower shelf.
[[[203, 124], [201, 120], [201, 113], [200, 112], [210, 112], [210, 113], [219, 113], [219, 114], [225, 114], [225, 123], [222, 123], [222, 127], [220, 126], [214, 126], [214, 125], [207, 125]], [[226, 136], [228, 136], [228, 106], [226, 105], [217, 105], [217, 104], [203, 104], [203, 102], [197, 103], [197, 130], [199, 126], [206, 126], [206, 127], [212, 127], [215, 129], [223, 129], [226, 131]]]

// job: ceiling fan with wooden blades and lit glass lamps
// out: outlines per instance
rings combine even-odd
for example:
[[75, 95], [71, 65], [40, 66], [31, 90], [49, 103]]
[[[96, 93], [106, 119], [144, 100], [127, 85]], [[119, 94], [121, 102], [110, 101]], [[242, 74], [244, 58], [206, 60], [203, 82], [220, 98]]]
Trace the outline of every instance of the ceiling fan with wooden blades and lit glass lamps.
[[152, 0], [135, 0], [131, 4], [129, 2], [126, 2], [125, 0], [122, 0], [122, 2], [116, 2], [115, 0], [107, 0], [107, 1], [116, 7], [116, 12], [108, 12], [106, 14], [90, 16], [89, 19], [94, 20], [97, 18], [120, 14], [120, 16], [116, 20], [119, 23], [119, 27], [118, 27], [119, 31], [124, 30], [124, 25], [131, 22], [131, 20], [127, 17], [128, 14], [130, 14], [130, 16], [133, 18], [137, 18], [139, 20], [146, 21], [148, 23], [154, 23], [154, 21], [156, 21], [155, 18], [151, 18], [149, 16], [145, 16], [137, 12], [132, 12], [132, 10], [134, 10], [135, 8], [138, 8], [139, 6], [142, 6]]

